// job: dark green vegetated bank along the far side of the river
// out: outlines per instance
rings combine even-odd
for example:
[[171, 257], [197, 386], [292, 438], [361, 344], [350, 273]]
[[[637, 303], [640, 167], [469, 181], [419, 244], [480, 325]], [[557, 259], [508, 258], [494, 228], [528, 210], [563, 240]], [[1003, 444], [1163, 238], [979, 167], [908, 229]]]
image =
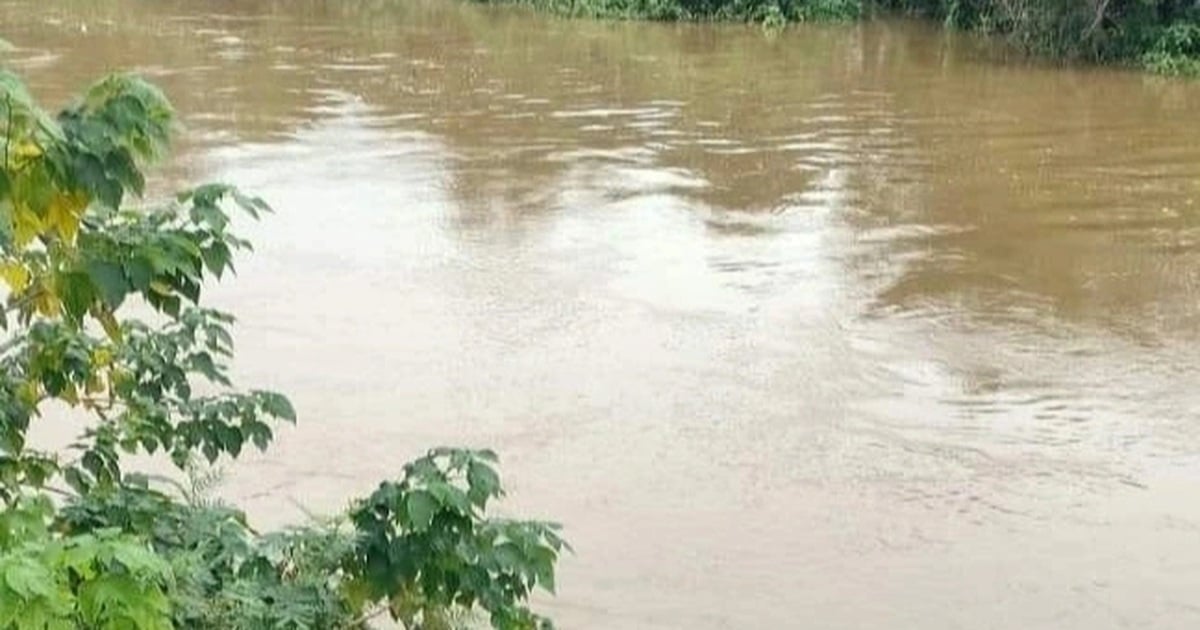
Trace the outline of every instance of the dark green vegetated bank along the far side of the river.
[[1006, 37], [1045, 58], [1200, 76], [1200, 5], [1192, 0], [476, 0], [569, 17], [734, 20], [782, 28], [905, 13]]

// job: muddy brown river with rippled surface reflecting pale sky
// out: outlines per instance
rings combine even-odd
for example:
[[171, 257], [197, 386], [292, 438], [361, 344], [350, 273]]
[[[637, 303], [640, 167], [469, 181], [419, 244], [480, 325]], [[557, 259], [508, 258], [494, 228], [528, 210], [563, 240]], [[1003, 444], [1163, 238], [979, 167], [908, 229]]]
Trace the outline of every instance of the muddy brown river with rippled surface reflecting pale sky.
[[230, 469], [260, 521], [490, 445], [568, 630], [1200, 625], [1200, 83], [451, 0], [0, 37], [48, 103], [151, 77], [161, 188], [277, 208], [214, 293], [301, 413]]

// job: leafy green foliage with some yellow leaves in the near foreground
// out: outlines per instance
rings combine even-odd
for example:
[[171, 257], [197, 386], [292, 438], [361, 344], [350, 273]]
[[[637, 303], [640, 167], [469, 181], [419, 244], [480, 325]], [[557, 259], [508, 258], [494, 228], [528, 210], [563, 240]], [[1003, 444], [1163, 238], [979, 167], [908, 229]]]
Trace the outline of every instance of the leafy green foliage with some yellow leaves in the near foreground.
[[[281, 394], [234, 388], [233, 317], [202, 305], [250, 247], [227, 206], [266, 204], [204, 185], [127, 206], [172, 120], [133, 77], [50, 116], [0, 72], [0, 630], [439, 629], [473, 610], [548, 625], [524, 602], [553, 590], [565, 544], [554, 524], [486, 516], [503, 494], [490, 451], [430, 451], [346, 515], [266, 534], [197, 484], [128, 469], [166, 455], [203, 479], [197, 462], [265, 449], [296, 416]], [[38, 450], [52, 404], [90, 422]]]

